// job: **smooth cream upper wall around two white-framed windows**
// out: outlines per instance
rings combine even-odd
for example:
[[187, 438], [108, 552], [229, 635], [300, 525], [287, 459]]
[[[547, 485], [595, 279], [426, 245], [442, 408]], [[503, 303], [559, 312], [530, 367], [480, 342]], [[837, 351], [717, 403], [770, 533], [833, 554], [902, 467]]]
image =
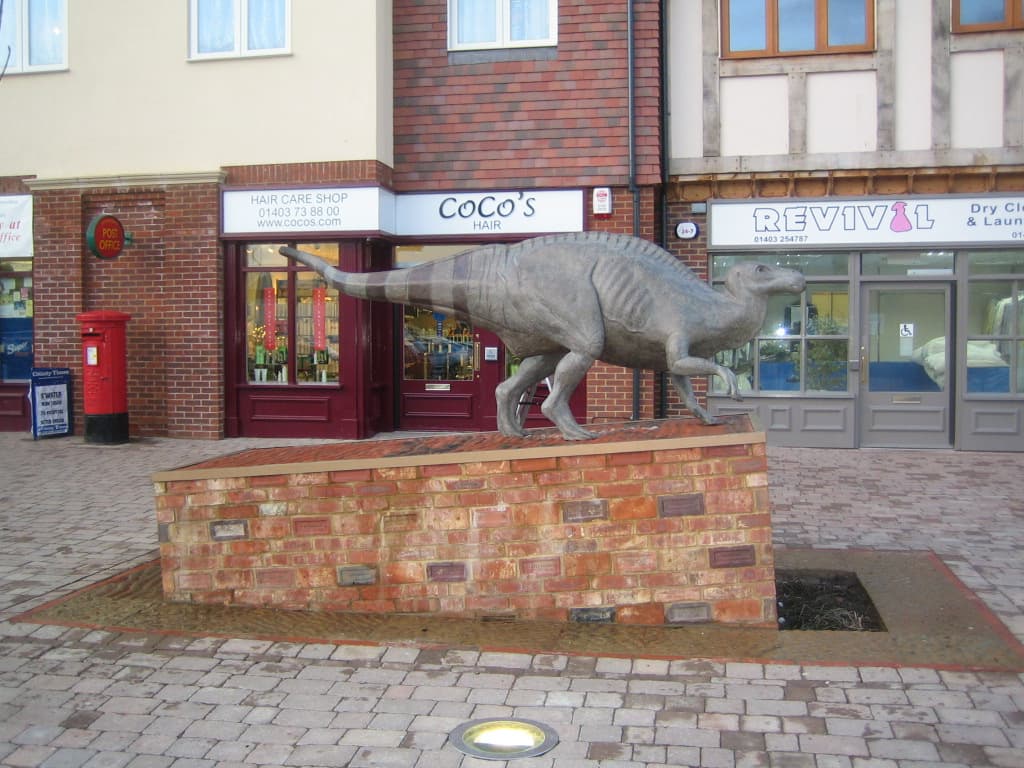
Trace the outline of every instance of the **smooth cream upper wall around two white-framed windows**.
[[292, 53], [188, 60], [188, 4], [69, 3], [67, 72], [0, 84], [0, 175], [391, 164], [391, 2], [295, 0]]

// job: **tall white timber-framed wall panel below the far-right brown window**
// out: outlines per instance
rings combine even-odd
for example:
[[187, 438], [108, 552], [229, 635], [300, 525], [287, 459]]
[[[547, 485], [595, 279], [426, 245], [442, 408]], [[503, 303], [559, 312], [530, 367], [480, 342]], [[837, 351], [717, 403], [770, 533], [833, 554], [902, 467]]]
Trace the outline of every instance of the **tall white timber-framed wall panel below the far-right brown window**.
[[1002, 145], [1002, 55], [1001, 50], [983, 50], [950, 57], [950, 140], [954, 147]]

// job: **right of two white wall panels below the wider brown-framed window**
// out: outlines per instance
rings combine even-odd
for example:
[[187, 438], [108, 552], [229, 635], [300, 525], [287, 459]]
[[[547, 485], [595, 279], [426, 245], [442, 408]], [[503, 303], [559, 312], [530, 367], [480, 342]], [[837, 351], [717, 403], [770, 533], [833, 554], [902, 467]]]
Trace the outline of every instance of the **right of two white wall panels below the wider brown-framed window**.
[[878, 146], [878, 95], [873, 72], [823, 72], [807, 76], [807, 152], [873, 152]]

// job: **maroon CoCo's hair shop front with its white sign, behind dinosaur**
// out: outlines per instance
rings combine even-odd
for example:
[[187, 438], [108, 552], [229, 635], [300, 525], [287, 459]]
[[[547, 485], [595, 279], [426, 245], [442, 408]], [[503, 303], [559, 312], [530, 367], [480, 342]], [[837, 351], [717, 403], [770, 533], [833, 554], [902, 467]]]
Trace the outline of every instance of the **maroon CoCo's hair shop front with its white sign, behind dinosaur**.
[[[584, 221], [580, 190], [226, 189], [222, 207], [228, 436], [490, 431], [495, 387], [517, 364], [465, 318], [339, 294], [281, 246], [364, 272], [581, 231]], [[581, 388], [573, 410], [585, 409]], [[529, 424], [546, 423], [535, 409]]]

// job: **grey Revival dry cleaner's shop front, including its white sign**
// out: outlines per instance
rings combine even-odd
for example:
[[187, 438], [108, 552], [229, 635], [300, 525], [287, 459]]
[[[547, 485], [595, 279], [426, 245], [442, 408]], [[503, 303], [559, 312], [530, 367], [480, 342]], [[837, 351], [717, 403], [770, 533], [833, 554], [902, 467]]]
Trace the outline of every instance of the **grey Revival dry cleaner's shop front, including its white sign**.
[[720, 355], [779, 445], [1024, 451], [1024, 198], [713, 201], [712, 279], [800, 269], [799, 300]]

